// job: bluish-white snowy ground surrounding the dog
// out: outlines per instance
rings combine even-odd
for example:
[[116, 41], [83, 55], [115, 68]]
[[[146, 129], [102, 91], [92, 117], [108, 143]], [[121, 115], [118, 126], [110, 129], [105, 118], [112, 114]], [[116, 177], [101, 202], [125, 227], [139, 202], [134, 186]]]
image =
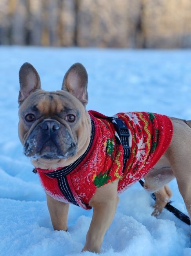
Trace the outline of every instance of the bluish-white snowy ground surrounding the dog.
[[[92, 211], [70, 206], [69, 232], [53, 231], [45, 195], [18, 140], [18, 70], [28, 61], [42, 87], [60, 89], [65, 71], [82, 62], [89, 74], [88, 109], [113, 115], [152, 111], [191, 119], [191, 51], [0, 47], [0, 256], [77, 256]], [[176, 181], [173, 205], [186, 213]], [[135, 184], [120, 196], [102, 255], [191, 256], [189, 226]], [[84, 252], [82, 255], [92, 255]]]

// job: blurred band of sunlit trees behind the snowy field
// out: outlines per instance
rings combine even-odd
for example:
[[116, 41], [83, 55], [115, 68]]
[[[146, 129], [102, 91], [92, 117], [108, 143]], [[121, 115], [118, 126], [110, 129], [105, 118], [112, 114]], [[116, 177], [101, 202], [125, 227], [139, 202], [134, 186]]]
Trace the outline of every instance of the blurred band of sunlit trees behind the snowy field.
[[0, 0], [0, 44], [191, 47], [191, 0]]

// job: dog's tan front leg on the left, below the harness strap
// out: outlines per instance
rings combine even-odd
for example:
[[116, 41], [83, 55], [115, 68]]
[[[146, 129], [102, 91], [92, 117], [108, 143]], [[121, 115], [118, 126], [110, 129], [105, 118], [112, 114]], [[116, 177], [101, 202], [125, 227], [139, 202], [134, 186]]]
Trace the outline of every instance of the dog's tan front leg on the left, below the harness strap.
[[69, 204], [65, 204], [46, 195], [48, 210], [54, 230], [67, 231], [67, 215]]

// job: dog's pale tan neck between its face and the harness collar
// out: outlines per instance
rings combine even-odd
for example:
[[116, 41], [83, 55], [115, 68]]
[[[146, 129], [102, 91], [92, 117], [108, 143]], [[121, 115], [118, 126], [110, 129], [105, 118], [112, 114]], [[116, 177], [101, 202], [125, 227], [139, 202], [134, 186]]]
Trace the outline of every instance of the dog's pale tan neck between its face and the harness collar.
[[36, 160], [31, 160], [32, 164], [35, 166], [35, 168], [40, 168], [45, 170], [56, 170], [59, 167], [68, 166], [71, 163], [75, 162], [78, 158], [80, 158], [80, 156], [82, 156], [87, 150], [90, 143], [90, 137], [91, 137], [91, 119], [87, 112], [86, 112], [85, 123], [84, 123], [84, 126], [81, 128], [80, 134], [82, 135], [82, 138], [80, 140], [81, 143], [78, 145], [78, 149], [75, 156], [68, 159], [58, 158], [54, 160], [38, 158]]

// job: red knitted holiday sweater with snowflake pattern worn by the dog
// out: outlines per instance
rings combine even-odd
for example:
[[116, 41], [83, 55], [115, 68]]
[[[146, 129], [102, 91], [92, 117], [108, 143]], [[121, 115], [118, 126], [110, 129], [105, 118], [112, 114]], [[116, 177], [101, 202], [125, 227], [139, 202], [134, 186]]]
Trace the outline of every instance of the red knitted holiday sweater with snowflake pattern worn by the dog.
[[[173, 135], [173, 125], [165, 115], [146, 112], [116, 114], [115, 117], [126, 123], [130, 133], [131, 155], [123, 173], [123, 148], [118, 143], [112, 122], [95, 111], [89, 111], [89, 115], [95, 126], [95, 134], [84, 159], [77, 166], [71, 164], [55, 171], [36, 168], [48, 195], [62, 202], [73, 202], [68, 200], [70, 191], [77, 205], [85, 209], [90, 208], [88, 202], [97, 187], [119, 179], [120, 193], [146, 176], [168, 148]], [[52, 177], [66, 168], [69, 171], [63, 179]], [[66, 183], [66, 189], [63, 191], [60, 186]]]

